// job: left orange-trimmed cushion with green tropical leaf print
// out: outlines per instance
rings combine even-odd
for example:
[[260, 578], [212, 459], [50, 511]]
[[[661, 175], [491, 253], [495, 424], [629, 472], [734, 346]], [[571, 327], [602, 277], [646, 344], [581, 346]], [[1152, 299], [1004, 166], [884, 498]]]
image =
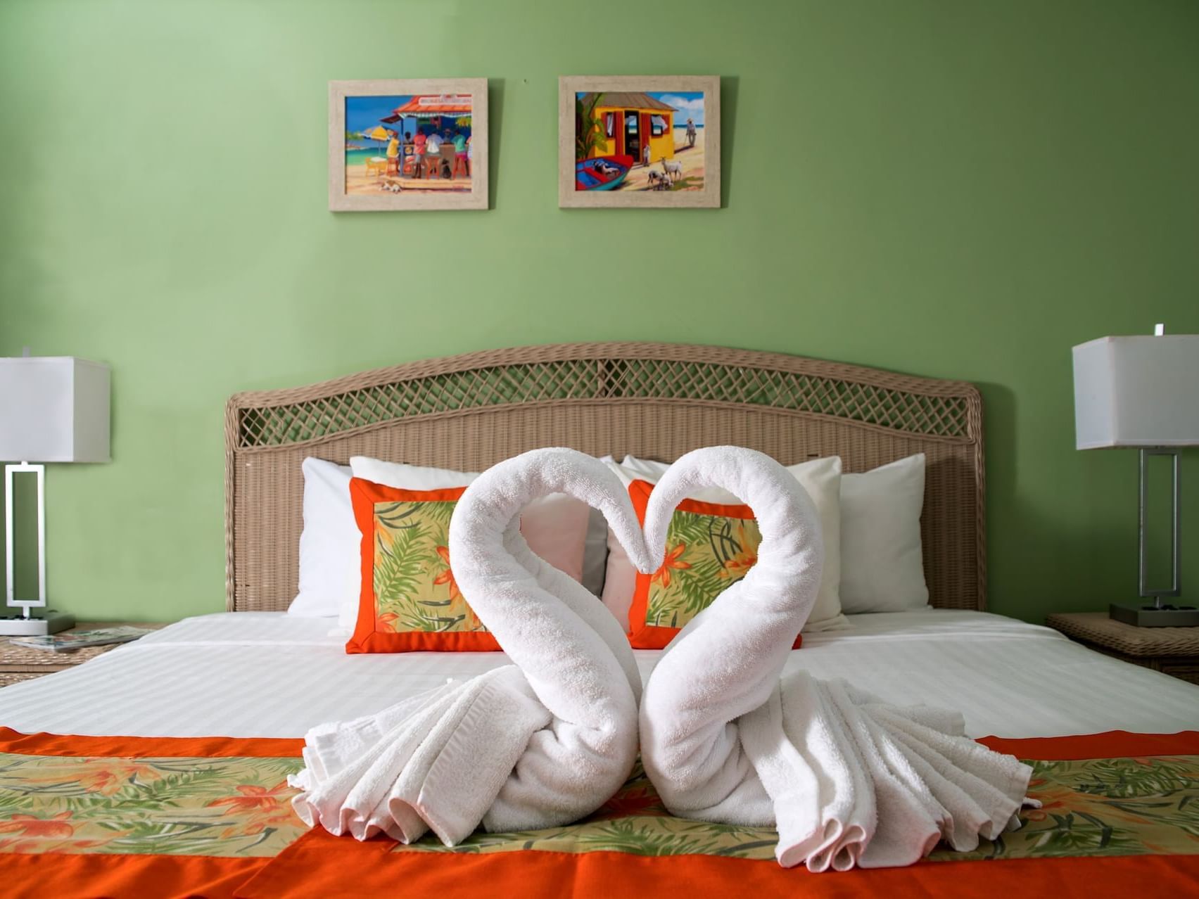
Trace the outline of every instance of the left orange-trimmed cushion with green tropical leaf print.
[[465, 490], [402, 490], [350, 479], [362, 535], [362, 593], [347, 652], [500, 648], [458, 592], [450, 567], [450, 517]]

